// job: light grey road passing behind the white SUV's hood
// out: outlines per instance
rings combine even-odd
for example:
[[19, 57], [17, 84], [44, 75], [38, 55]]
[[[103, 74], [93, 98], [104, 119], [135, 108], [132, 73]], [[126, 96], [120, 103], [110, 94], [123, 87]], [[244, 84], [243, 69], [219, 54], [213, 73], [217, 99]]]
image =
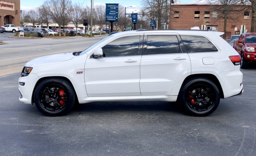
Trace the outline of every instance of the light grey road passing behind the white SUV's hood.
[[[11, 36], [13, 33], [0, 35]], [[77, 36], [73, 39], [10, 39], [0, 37], [0, 41], [8, 43], [0, 45], [0, 69], [24, 66], [30, 59], [45, 55], [82, 51], [105, 37], [106, 36], [97, 36], [87, 38]]]

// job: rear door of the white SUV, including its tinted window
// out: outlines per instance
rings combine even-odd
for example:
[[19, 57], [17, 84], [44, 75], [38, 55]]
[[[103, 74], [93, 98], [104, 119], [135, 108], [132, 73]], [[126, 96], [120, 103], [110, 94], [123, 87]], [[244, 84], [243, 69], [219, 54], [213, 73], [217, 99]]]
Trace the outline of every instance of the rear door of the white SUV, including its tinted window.
[[141, 95], [170, 95], [177, 79], [191, 74], [177, 33], [145, 33], [140, 66]]

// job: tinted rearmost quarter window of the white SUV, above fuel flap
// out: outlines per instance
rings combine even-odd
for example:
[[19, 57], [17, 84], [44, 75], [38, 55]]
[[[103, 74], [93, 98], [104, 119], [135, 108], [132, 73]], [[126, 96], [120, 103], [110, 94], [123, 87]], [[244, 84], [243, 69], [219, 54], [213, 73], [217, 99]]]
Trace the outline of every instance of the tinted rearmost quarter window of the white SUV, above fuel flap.
[[203, 36], [181, 35], [187, 52], [215, 52], [217, 48]]

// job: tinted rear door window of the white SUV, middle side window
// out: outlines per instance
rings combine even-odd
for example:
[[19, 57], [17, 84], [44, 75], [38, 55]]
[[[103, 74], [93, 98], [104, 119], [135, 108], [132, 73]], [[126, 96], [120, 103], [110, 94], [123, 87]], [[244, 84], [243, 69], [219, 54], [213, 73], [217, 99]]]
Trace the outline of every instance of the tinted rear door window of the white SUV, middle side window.
[[176, 35], [148, 35], [147, 55], [179, 53]]

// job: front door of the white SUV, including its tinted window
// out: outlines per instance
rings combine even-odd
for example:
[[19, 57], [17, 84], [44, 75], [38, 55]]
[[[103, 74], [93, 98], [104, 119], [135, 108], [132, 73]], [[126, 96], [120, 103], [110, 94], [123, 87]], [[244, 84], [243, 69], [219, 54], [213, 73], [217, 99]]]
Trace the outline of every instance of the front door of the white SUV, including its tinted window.
[[88, 97], [141, 95], [142, 42], [143, 35], [120, 37], [99, 47], [102, 58], [88, 56], [84, 70]]

